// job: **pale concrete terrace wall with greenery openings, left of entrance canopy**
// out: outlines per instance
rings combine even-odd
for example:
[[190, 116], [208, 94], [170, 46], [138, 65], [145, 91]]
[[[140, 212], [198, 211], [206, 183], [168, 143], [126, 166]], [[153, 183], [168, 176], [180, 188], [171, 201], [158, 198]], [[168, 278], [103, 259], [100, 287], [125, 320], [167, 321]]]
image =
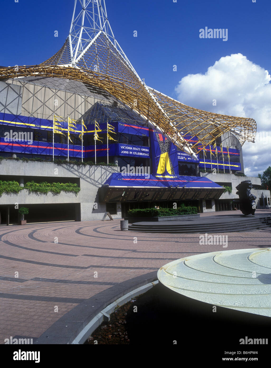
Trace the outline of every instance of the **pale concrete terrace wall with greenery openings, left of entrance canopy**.
[[[61, 203], [81, 203], [81, 220], [102, 219], [106, 212], [106, 204], [99, 203], [98, 188], [105, 183], [109, 176], [117, 172], [117, 167], [107, 166], [86, 166], [77, 167], [73, 165], [56, 165], [51, 162], [22, 162], [15, 160], [2, 160], [0, 163], [0, 175], [22, 176], [24, 181], [28, 177], [53, 177], [55, 181], [58, 178], [80, 178], [80, 192], [75, 195], [73, 193], [61, 192], [59, 195], [48, 193], [28, 194], [27, 190], [21, 191], [18, 195], [3, 194], [0, 197], [1, 205], [14, 205], [18, 202], [24, 204], [61, 204]], [[95, 203], [98, 208], [95, 208]], [[121, 217], [121, 205], [117, 203], [117, 215], [114, 218]]]

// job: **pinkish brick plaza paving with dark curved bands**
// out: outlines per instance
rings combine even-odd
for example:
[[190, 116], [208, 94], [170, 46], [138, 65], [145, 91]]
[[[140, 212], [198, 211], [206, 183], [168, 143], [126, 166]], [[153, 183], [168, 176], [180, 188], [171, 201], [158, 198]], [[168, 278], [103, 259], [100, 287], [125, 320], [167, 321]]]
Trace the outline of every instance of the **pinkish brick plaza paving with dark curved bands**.
[[[268, 231], [227, 235], [227, 249], [271, 246]], [[157, 279], [161, 265], [224, 249], [199, 245], [198, 234], [120, 231], [119, 220], [0, 226], [0, 343], [67, 343], [114, 297]]]

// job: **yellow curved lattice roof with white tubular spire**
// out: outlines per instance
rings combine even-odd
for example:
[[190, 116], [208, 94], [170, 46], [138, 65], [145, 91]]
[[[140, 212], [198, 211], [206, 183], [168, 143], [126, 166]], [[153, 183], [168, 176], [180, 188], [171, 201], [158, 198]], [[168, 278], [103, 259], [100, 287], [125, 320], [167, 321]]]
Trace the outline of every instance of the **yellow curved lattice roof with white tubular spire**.
[[[254, 142], [253, 119], [198, 110], [146, 86], [114, 37], [105, 0], [75, 0], [69, 35], [48, 60], [39, 65], [0, 68], [0, 79], [26, 76], [80, 80], [101, 88], [194, 158], [226, 132], [237, 136], [241, 144]], [[200, 148], [198, 142], [188, 143], [183, 135], [196, 136]]]

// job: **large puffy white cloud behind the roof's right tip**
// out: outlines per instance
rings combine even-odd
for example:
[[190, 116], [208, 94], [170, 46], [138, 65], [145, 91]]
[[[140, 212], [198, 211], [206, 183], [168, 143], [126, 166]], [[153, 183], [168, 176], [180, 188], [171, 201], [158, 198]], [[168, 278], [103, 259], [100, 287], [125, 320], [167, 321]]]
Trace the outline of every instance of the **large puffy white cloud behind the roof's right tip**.
[[243, 145], [245, 173], [251, 176], [271, 166], [270, 80], [267, 70], [239, 53], [221, 57], [204, 75], [188, 74], [175, 88], [186, 105], [256, 120], [256, 143]]

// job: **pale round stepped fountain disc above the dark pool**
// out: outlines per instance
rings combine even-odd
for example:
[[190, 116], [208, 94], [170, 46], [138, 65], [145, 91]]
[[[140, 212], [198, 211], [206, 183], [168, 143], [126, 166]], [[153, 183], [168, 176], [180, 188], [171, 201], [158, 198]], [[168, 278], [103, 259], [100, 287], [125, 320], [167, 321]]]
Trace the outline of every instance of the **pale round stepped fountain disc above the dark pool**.
[[158, 279], [189, 298], [271, 317], [271, 248], [177, 259], [160, 268]]

